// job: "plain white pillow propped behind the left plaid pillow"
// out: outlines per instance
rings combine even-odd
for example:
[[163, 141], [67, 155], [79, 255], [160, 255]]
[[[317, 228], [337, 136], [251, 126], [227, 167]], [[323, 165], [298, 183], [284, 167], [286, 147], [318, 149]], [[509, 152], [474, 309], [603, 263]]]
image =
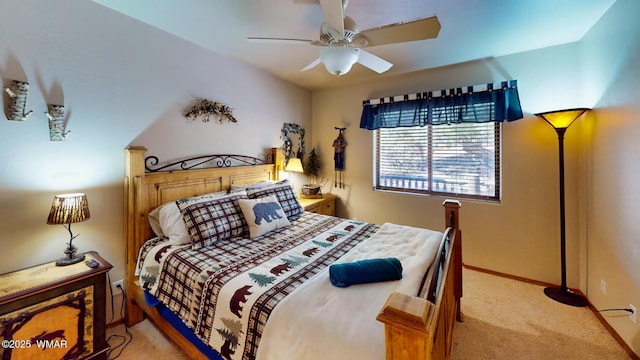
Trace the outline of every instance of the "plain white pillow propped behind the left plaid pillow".
[[187, 231], [182, 213], [177, 203], [180, 202], [183, 207], [205, 202], [209, 200], [219, 199], [227, 196], [226, 191], [218, 191], [202, 196], [179, 199], [158, 206], [149, 213], [149, 225], [157, 236], [169, 238], [171, 245], [185, 245], [191, 243], [191, 235]]

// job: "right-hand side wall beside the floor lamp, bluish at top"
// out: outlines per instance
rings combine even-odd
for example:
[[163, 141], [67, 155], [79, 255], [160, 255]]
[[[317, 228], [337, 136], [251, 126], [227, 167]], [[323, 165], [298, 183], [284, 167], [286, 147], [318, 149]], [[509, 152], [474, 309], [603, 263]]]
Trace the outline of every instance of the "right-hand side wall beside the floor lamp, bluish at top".
[[[583, 129], [589, 300], [640, 308], [640, 2], [618, 0], [583, 40], [585, 78], [596, 100]], [[606, 294], [600, 281], [606, 282]], [[640, 328], [626, 313], [603, 313], [640, 354]]]

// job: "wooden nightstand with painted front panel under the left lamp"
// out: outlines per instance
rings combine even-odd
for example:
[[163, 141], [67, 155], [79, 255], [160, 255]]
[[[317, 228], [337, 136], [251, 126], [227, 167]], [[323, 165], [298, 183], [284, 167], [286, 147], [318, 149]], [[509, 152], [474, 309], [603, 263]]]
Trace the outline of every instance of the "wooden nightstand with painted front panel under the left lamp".
[[106, 359], [107, 272], [96, 252], [86, 260], [55, 261], [0, 275], [0, 358]]

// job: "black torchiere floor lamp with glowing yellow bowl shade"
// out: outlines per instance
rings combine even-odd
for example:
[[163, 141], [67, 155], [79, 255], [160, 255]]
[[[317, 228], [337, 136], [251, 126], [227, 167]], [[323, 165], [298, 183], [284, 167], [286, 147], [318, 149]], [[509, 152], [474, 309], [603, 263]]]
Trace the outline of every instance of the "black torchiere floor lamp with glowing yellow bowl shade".
[[578, 118], [590, 109], [577, 108], [558, 111], [549, 111], [536, 114], [541, 117], [549, 125], [551, 125], [558, 133], [558, 143], [560, 149], [560, 263], [562, 267], [562, 283], [560, 287], [547, 287], [544, 293], [557, 302], [571, 306], [586, 306], [587, 299], [580, 295], [569, 291], [567, 288], [567, 254], [565, 239], [565, 216], [564, 216], [564, 133], [567, 128]]

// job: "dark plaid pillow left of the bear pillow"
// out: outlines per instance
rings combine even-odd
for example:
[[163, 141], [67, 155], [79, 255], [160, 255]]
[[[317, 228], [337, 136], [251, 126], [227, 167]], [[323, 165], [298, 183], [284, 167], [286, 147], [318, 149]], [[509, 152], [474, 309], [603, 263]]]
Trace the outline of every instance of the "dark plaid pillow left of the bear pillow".
[[185, 226], [191, 236], [191, 248], [197, 250], [225, 240], [249, 233], [238, 199], [246, 199], [244, 192], [199, 203], [180, 203]]

